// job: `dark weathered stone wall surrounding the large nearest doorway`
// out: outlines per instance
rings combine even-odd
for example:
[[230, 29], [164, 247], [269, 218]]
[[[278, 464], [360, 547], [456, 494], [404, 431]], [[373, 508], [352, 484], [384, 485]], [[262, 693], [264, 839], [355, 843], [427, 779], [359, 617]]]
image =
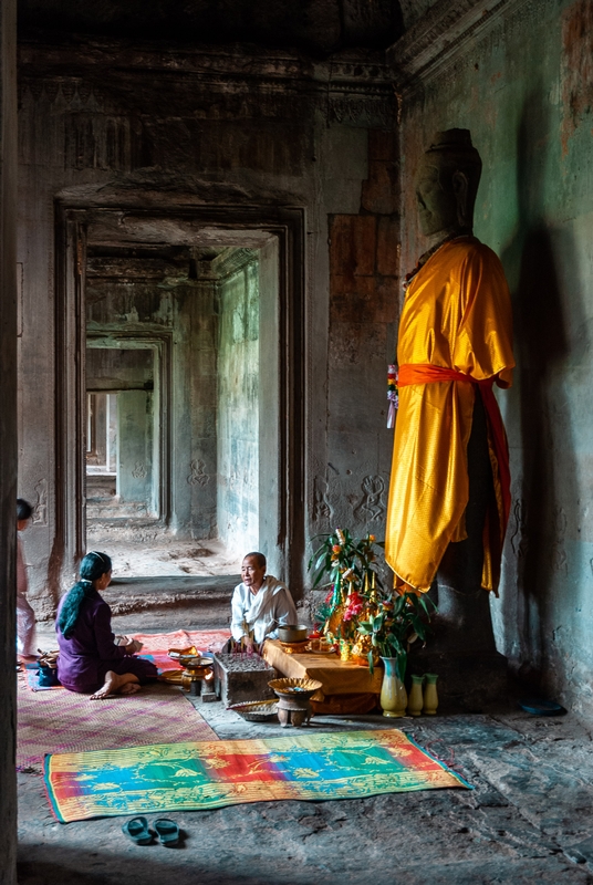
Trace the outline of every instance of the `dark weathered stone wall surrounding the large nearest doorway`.
[[[19, 261], [27, 317], [20, 490], [35, 506], [27, 558], [39, 613], [51, 612], [79, 555], [64, 551], [63, 489], [56, 476], [60, 470], [63, 483], [70, 469], [64, 459], [73, 451], [60, 442], [61, 415], [73, 391], [60, 385], [64, 371], [75, 365], [69, 362], [75, 358], [76, 322], [69, 299], [77, 296], [74, 278], [80, 272], [84, 282], [86, 264], [82, 240], [69, 257], [74, 248], [70, 222], [56, 233], [62, 208], [74, 227], [79, 210], [95, 211], [95, 228], [108, 211], [117, 211], [113, 241], [127, 238], [129, 246], [134, 228], [138, 249], [177, 241], [175, 223], [166, 220], [177, 210], [185, 212], [189, 231], [183, 246], [220, 243], [220, 232], [241, 226], [266, 227], [266, 236], [280, 243], [277, 343], [285, 340], [292, 350], [279, 360], [282, 406], [275, 418], [284, 441], [281, 451], [275, 448], [282, 480], [274, 481], [282, 512], [268, 532], [273, 539], [268, 553], [275, 549], [279, 576], [290, 576], [300, 593], [311, 535], [335, 524], [383, 532], [392, 444], [385, 429], [385, 366], [394, 352], [397, 312], [392, 136], [397, 103], [384, 55], [352, 50], [324, 62], [289, 51], [72, 38], [64, 44], [23, 42], [20, 63]], [[147, 212], [165, 220], [145, 223]], [[215, 212], [216, 230], [205, 221]], [[96, 257], [104, 242], [93, 225], [90, 261], [95, 260], [92, 249]], [[239, 230], [239, 239], [227, 244], [260, 248]], [[345, 257], [351, 243], [365, 253], [360, 266]], [[72, 295], [70, 290], [63, 295], [64, 274], [73, 280]], [[199, 277], [183, 285], [177, 281], [175, 296], [167, 285], [152, 285], [144, 312], [122, 292], [128, 330], [139, 324], [155, 335], [167, 331], [184, 292], [188, 303], [198, 303], [196, 287], [208, 301], [211, 281]], [[89, 279], [86, 285], [89, 295]], [[98, 314], [96, 320], [103, 322]], [[214, 377], [209, 322], [191, 308], [183, 341], [171, 346], [174, 352], [186, 346], [187, 324], [197, 324], [204, 334], [200, 372]], [[175, 356], [173, 365], [171, 389], [183, 407], [170, 440], [171, 488], [189, 485], [195, 501], [187, 512], [173, 501], [171, 520], [174, 529], [190, 524], [199, 537], [204, 527], [195, 520], [198, 510], [205, 512], [204, 496], [211, 494], [212, 508], [216, 501], [211, 436], [201, 437], [202, 455], [180, 452], [189, 437], [198, 445], [196, 421], [212, 426], [206, 418], [216, 386], [193, 381]]]

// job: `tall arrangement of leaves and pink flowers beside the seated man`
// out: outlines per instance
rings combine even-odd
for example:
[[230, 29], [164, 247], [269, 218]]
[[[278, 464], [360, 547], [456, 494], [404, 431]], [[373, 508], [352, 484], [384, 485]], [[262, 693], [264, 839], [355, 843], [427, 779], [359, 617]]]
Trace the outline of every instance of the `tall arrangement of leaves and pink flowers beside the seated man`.
[[374, 534], [354, 538], [347, 529], [321, 537], [323, 542], [313, 553], [309, 569], [314, 574], [313, 587], [321, 584], [330, 590], [315, 613], [315, 627], [347, 658], [353, 646], [360, 644], [358, 620], [370, 613], [371, 600], [381, 587], [375, 549], [384, 543]]

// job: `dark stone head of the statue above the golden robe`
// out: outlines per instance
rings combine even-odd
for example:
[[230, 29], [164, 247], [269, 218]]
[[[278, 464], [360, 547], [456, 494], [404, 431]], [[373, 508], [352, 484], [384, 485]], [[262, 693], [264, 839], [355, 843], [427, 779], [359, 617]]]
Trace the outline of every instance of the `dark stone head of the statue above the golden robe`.
[[481, 159], [469, 129], [435, 135], [416, 176], [420, 228], [426, 237], [471, 233], [480, 175]]

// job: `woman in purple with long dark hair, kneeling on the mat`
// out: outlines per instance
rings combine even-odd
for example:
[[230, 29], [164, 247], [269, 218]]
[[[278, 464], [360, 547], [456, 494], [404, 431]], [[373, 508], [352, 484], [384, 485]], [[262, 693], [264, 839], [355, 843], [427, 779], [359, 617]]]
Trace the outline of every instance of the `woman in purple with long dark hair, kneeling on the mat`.
[[106, 553], [87, 553], [81, 563], [81, 580], [62, 598], [55, 621], [60, 681], [70, 691], [91, 695], [91, 700], [133, 695], [157, 676], [154, 664], [133, 657], [139, 643], [114, 643], [111, 608], [100, 595], [110, 585], [111, 572]]

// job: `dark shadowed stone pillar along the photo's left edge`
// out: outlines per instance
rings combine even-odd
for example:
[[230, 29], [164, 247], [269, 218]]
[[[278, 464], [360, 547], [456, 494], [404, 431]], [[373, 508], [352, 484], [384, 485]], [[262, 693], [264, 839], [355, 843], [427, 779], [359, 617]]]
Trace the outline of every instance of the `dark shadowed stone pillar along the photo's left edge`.
[[0, 1], [0, 883], [17, 883], [17, 3]]

